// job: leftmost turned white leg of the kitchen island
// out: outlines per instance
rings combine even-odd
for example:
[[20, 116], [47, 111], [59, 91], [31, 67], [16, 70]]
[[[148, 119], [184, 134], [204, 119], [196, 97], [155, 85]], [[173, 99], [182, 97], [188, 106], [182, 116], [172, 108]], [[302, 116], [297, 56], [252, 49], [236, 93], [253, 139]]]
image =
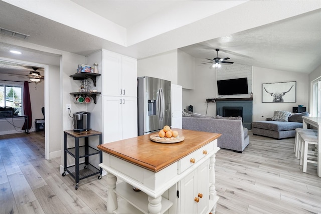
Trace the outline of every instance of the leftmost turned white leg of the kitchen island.
[[117, 177], [107, 172], [107, 213], [113, 213], [118, 208], [117, 195], [113, 191], [116, 187]]

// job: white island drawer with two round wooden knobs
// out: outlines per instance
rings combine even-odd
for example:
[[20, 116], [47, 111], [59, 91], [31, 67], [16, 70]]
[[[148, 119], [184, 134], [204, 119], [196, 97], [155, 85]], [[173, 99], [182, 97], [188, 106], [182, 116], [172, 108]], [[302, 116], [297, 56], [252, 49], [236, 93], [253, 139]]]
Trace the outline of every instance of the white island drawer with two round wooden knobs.
[[203, 157], [208, 155], [213, 149], [214, 149], [214, 141], [206, 144], [205, 146], [194, 151], [193, 153], [180, 159], [178, 164], [178, 173], [181, 174], [190, 166], [192, 166], [193, 164], [201, 160]]

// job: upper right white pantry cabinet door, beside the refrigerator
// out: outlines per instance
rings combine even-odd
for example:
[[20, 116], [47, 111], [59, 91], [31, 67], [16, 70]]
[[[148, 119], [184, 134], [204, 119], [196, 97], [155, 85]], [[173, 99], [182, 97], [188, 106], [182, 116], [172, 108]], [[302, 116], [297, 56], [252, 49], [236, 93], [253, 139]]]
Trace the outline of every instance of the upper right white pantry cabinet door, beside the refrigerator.
[[126, 97], [137, 97], [137, 60], [122, 56], [122, 90]]

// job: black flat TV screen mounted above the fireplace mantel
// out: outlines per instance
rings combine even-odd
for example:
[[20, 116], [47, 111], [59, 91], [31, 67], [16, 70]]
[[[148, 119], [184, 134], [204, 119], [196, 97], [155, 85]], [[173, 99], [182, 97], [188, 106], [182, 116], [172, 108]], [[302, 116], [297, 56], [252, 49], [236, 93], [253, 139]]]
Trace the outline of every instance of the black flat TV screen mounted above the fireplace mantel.
[[229, 80], [218, 80], [219, 95], [248, 94], [247, 77]]

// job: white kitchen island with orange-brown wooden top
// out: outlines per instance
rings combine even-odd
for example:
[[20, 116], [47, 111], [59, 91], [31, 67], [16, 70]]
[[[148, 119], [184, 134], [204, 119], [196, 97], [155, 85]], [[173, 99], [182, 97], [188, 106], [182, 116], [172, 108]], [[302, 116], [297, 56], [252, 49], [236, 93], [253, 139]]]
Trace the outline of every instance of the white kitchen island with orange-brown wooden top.
[[[150, 140], [152, 133], [98, 145], [103, 153], [99, 166], [108, 172], [108, 213], [215, 212], [214, 166], [221, 134], [173, 130], [184, 141], [157, 143]], [[117, 177], [124, 182], [116, 185]]]

